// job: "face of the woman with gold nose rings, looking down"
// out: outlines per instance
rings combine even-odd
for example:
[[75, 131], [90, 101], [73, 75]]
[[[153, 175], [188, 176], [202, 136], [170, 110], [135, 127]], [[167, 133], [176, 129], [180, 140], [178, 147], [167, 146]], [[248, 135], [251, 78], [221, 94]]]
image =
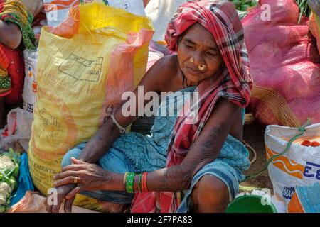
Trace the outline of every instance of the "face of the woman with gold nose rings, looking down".
[[178, 62], [189, 82], [201, 82], [220, 69], [223, 59], [213, 35], [195, 23], [178, 43]]

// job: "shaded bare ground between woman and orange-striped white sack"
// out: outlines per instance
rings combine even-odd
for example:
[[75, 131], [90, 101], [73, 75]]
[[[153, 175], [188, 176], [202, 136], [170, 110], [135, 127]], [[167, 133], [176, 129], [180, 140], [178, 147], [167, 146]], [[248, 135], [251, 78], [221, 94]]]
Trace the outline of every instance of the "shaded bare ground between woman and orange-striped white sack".
[[[245, 142], [255, 150], [257, 153], [257, 159], [252, 163], [250, 169], [245, 172], [245, 175], [254, 174], [265, 167], [266, 157], [264, 135], [265, 126], [258, 123], [252, 114], [246, 114], [243, 140], [245, 140]], [[248, 150], [250, 152], [250, 160], [252, 160], [254, 155], [250, 148], [248, 148]], [[272, 183], [267, 170], [253, 179], [248, 179], [246, 182], [242, 182], [240, 185], [244, 187], [267, 188], [272, 191]]]

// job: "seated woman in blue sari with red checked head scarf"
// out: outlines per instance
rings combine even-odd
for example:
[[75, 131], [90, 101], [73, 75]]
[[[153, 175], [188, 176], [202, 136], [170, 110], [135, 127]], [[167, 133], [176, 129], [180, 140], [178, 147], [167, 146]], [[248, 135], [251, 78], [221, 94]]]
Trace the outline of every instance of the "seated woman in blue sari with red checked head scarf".
[[[240, 141], [252, 89], [237, 11], [228, 1], [183, 4], [166, 42], [176, 55], [156, 62], [139, 84], [144, 94], [174, 92], [161, 102], [151, 135], [121, 135], [137, 117], [118, 109], [87, 143], [65, 155], [63, 172], [55, 176], [58, 204], [48, 204], [48, 212], [57, 212], [63, 199], [69, 212], [78, 193], [120, 204], [114, 205], [118, 211], [132, 204], [132, 212], [223, 212], [235, 198], [250, 167]], [[194, 122], [186, 92], [198, 92]], [[164, 108], [186, 111], [161, 116]]]

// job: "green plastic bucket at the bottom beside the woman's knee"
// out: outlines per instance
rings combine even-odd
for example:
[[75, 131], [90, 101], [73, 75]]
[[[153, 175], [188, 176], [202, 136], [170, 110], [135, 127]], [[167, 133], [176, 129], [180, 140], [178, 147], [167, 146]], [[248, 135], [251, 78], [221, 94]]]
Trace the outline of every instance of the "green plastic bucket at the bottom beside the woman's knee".
[[[261, 201], [265, 201], [262, 205]], [[277, 213], [277, 209], [272, 202], [259, 195], [244, 195], [236, 198], [229, 204], [226, 213]]]

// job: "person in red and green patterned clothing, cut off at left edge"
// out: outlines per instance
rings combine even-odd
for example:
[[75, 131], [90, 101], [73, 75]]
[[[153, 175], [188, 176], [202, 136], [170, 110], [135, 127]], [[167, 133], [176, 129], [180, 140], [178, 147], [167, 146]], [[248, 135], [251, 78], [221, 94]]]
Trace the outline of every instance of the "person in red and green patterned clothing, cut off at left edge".
[[32, 20], [22, 1], [0, 0], [0, 128], [6, 122], [4, 104], [13, 106], [22, 101], [22, 51], [36, 48]]

